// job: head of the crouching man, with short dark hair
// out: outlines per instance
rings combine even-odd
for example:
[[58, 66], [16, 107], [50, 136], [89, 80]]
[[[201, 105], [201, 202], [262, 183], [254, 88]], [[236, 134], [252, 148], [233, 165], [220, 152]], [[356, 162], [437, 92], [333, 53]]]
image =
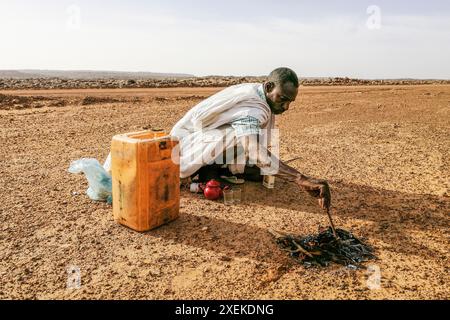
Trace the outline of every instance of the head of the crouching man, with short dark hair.
[[264, 91], [274, 114], [281, 114], [289, 109], [289, 104], [297, 97], [298, 86], [298, 77], [289, 68], [278, 68], [269, 74], [264, 83]]

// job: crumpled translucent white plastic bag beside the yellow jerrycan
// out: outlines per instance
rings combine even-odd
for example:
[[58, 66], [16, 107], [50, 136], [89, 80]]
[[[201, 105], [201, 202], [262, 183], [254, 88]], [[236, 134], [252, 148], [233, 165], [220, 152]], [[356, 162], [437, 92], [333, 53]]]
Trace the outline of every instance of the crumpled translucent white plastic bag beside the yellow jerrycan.
[[73, 161], [70, 173], [84, 173], [89, 188], [86, 193], [92, 200], [112, 203], [111, 175], [106, 172], [97, 159], [83, 158]]

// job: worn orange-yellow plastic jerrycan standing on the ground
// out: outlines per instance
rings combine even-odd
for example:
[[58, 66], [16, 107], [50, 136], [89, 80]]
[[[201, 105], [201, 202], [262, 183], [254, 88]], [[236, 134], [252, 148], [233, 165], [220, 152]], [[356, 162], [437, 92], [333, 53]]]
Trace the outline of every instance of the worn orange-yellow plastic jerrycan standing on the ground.
[[111, 143], [114, 220], [148, 231], [180, 210], [178, 140], [164, 132], [116, 135]]

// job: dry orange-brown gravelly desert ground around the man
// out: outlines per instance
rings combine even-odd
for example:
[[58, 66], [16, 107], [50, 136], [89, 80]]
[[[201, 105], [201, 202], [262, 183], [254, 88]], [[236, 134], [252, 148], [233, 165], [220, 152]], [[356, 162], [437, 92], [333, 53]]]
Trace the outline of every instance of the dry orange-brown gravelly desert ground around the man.
[[[450, 298], [450, 86], [302, 88], [277, 120], [281, 157], [300, 156], [293, 166], [330, 181], [335, 223], [376, 248], [375, 271], [305, 269], [280, 252], [268, 228], [327, 225], [314, 199], [280, 181], [273, 191], [247, 183], [234, 207], [183, 191], [177, 221], [137, 233], [67, 172], [71, 160], [103, 161], [114, 134], [169, 130], [215, 91], [3, 97], [0, 298]], [[69, 266], [80, 268], [80, 289], [67, 288]]]

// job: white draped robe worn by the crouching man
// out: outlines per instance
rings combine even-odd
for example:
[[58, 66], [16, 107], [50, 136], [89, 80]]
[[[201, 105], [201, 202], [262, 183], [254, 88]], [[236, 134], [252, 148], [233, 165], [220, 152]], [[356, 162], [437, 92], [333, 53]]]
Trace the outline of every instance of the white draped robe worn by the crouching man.
[[237, 144], [231, 123], [239, 118], [258, 119], [261, 129], [266, 129], [262, 130], [262, 138], [270, 147], [275, 117], [258, 89], [262, 84], [228, 87], [197, 104], [175, 124], [170, 135], [179, 139], [181, 178], [213, 163], [221, 152]]

